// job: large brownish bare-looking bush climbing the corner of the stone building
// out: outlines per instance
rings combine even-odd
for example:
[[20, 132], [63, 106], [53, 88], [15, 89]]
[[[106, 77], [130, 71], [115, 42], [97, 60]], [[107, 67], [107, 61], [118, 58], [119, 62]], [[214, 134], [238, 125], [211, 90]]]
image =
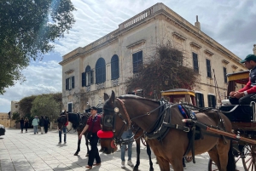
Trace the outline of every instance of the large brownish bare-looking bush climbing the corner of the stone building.
[[172, 88], [195, 88], [198, 73], [189, 67], [183, 51], [172, 47], [171, 43], [158, 46], [155, 54], [149, 56], [139, 67], [134, 77], [129, 77], [126, 86], [129, 92], [143, 89], [145, 97], [160, 97], [160, 91]]

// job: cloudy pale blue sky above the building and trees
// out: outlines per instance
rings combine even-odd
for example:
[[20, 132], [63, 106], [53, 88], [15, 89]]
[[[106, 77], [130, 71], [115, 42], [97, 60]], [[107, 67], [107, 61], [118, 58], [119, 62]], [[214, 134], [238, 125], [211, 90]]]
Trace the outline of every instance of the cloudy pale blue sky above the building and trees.
[[201, 22], [201, 31], [228, 48], [241, 59], [253, 54], [256, 44], [255, 0], [72, 0], [77, 9], [76, 23], [69, 34], [55, 41], [55, 49], [44, 54], [41, 61], [32, 61], [22, 71], [26, 82], [5, 88], [0, 95], [0, 112], [9, 112], [11, 100], [21, 100], [32, 94], [61, 92], [62, 56], [75, 48], [107, 35], [119, 24], [139, 14], [155, 3], [164, 3], [195, 25], [195, 16]]

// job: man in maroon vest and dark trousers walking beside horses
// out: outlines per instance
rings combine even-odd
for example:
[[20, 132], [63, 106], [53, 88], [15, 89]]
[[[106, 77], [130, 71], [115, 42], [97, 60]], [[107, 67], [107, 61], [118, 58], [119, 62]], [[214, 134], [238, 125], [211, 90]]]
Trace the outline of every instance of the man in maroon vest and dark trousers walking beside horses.
[[[86, 130], [89, 130], [89, 139], [90, 139], [90, 151], [89, 151], [89, 160], [88, 165], [85, 168], [92, 168], [92, 166], [101, 165], [101, 157], [98, 151], [98, 140], [97, 132], [102, 129], [101, 126], [101, 115], [97, 114], [97, 108], [95, 106], [90, 107], [90, 117], [87, 120], [86, 126], [79, 135], [79, 140], [81, 140], [83, 134]], [[96, 160], [96, 163], [93, 163]]]

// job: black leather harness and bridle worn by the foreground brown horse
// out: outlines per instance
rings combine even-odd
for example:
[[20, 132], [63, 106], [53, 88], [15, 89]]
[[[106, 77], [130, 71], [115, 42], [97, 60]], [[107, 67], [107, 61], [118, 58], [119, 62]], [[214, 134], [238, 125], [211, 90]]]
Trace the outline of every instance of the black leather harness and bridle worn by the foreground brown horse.
[[[156, 139], [156, 140], [162, 141], [166, 137], [166, 134], [168, 134], [170, 128], [175, 128], [175, 129], [178, 129], [178, 130], [188, 133], [189, 145], [188, 145], [187, 150], [183, 156], [186, 156], [189, 153], [189, 151], [191, 151], [194, 163], [195, 163], [195, 140], [203, 139], [204, 138], [203, 134], [207, 134], [206, 132], [202, 133], [201, 128], [205, 128], [208, 126], [211, 128], [225, 130], [223, 119], [220, 117], [219, 114], [218, 114], [219, 120], [218, 120], [217, 127], [199, 123], [196, 121], [195, 115], [194, 115], [194, 117], [193, 117], [193, 115], [191, 115], [191, 113], [192, 113], [191, 108], [194, 108], [198, 111], [209, 111], [212, 109], [199, 108], [199, 107], [195, 107], [194, 105], [188, 105], [188, 104], [170, 104], [166, 100], [160, 100], [160, 106], [155, 108], [153, 111], [148, 111], [146, 114], [143, 114], [141, 116], [130, 118], [128, 115], [128, 112], [125, 109], [124, 102], [122, 100], [119, 100], [119, 98], [116, 98], [116, 99], [120, 102], [120, 104], [123, 108], [123, 111], [125, 111], [125, 117], [127, 117], [128, 121], [126, 122], [125, 118], [122, 117], [122, 114], [119, 112], [118, 107], [114, 107], [114, 109], [104, 108], [104, 110], [107, 110], [107, 111], [114, 111], [114, 115], [113, 116], [112, 115], [104, 116], [104, 118], [103, 118], [103, 124], [107, 127], [113, 127], [113, 133], [115, 133], [116, 117], [120, 117], [120, 119], [122, 120], [123, 125], [122, 125], [121, 130], [119, 131], [119, 134], [117, 136], [114, 135], [114, 137], [113, 137], [113, 140], [116, 144], [124, 144], [124, 143], [127, 143], [127, 141], [131, 141], [131, 139], [133, 139], [133, 136], [132, 136], [130, 139], [121, 140], [120, 133], [123, 132], [125, 125], [127, 126], [127, 128], [131, 128], [132, 120], [134, 120], [138, 117], [148, 116], [158, 109], [160, 109], [160, 114], [157, 117], [156, 122], [150, 128], [148, 128], [148, 130], [151, 130], [151, 131], [150, 132], [144, 131], [144, 133], [141, 136], [145, 135], [149, 140]], [[187, 118], [189, 118], [188, 120], [190, 122], [186, 123], [186, 126], [179, 125], [179, 124], [172, 124], [171, 108], [176, 105], [182, 105]], [[216, 112], [218, 113], [218, 111], [216, 111]], [[221, 126], [220, 126], [220, 124], [221, 124]], [[214, 136], [214, 134], [208, 134], [208, 135]], [[226, 142], [224, 136], [222, 136], [222, 138], [223, 138], [224, 142]]]

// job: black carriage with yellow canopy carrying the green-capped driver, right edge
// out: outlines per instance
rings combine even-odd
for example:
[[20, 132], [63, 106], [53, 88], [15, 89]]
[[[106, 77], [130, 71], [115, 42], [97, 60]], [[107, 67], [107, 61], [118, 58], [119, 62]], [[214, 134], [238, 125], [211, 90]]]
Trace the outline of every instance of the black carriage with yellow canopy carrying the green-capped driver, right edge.
[[[248, 82], [249, 71], [241, 71], [227, 74], [228, 91], [236, 91]], [[248, 105], [227, 105], [227, 100], [223, 100], [225, 105], [219, 107], [224, 115], [230, 119], [232, 132], [236, 136], [247, 138], [248, 140], [233, 140], [233, 155], [236, 162], [242, 161], [245, 171], [256, 170], [256, 105], [251, 102]], [[208, 170], [216, 170], [212, 160], [209, 161]]]

